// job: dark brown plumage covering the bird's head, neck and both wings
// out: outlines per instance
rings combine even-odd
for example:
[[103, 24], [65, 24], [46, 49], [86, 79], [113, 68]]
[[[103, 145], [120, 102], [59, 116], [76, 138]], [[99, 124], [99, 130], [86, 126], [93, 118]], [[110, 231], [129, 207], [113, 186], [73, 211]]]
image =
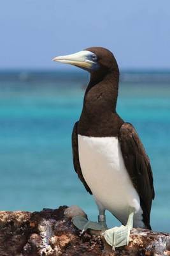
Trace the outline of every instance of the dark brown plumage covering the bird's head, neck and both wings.
[[125, 123], [116, 111], [119, 79], [117, 61], [110, 51], [102, 47], [91, 47], [86, 50], [96, 54], [99, 68], [89, 70], [91, 76], [85, 92], [83, 110], [79, 122], [76, 122], [73, 129], [74, 169], [87, 191], [92, 194], [81, 173], [78, 134], [93, 137], [117, 137], [125, 167], [140, 198], [143, 223], [150, 228], [150, 209], [154, 198], [152, 168], [134, 127]]

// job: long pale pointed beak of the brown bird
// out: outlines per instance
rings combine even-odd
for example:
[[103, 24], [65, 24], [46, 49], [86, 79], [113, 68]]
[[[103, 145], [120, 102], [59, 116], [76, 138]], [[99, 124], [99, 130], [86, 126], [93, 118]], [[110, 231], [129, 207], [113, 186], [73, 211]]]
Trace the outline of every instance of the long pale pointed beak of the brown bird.
[[92, 52], [90, 51], [80, 51], [70, 55], [55, 57], [52, 59], [52, 61], [58, 61], [89, 69], [92, 67], [92, 65], [94, 65], [94, 61], [90, 60], [89, 58], [91, 55]]

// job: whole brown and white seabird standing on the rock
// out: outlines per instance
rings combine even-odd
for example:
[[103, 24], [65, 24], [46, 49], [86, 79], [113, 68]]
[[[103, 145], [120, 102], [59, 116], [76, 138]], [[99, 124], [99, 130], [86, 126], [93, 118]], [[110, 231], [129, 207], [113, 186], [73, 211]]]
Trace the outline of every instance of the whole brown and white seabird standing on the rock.
[[[127, 244], [132, 227], [151, 228], [150, 210], [154, 198], [150, 160], [132, 124], [116, 111], [119, 69], [113, 54], [103, 47], [53, 59], [90, 72], [80, 120], [72, 134], [74, 169], [94, 196], [98, 223], [74, 218], [81, 230], [106, 230], [113, 247]], [[105, 210], [121, 227], [106, 228]]]

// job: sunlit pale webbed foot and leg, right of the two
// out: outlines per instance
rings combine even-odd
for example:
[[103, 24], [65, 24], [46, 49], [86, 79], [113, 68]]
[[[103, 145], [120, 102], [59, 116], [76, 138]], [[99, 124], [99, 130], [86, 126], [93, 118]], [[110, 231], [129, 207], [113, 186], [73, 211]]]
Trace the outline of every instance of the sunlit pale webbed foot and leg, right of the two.
[[130, 209], [127, 224], [120, 227], [114, 227], [104, 232], [104, 238], [115, 250], [116, 247], [129, 244], [130, 231], [133, 227], [134, 209]]

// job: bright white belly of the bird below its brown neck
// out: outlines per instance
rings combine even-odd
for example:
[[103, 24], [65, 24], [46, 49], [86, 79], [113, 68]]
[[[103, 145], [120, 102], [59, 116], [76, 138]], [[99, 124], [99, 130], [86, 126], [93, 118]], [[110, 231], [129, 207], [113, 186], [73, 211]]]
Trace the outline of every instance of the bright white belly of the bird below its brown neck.
[[133, 207], [134, 227], [144, 227], [139, 195], [125, 168], [116, 137], [87, 137], [78, 134], [81, 172], [97, 205], [126, 223]]

